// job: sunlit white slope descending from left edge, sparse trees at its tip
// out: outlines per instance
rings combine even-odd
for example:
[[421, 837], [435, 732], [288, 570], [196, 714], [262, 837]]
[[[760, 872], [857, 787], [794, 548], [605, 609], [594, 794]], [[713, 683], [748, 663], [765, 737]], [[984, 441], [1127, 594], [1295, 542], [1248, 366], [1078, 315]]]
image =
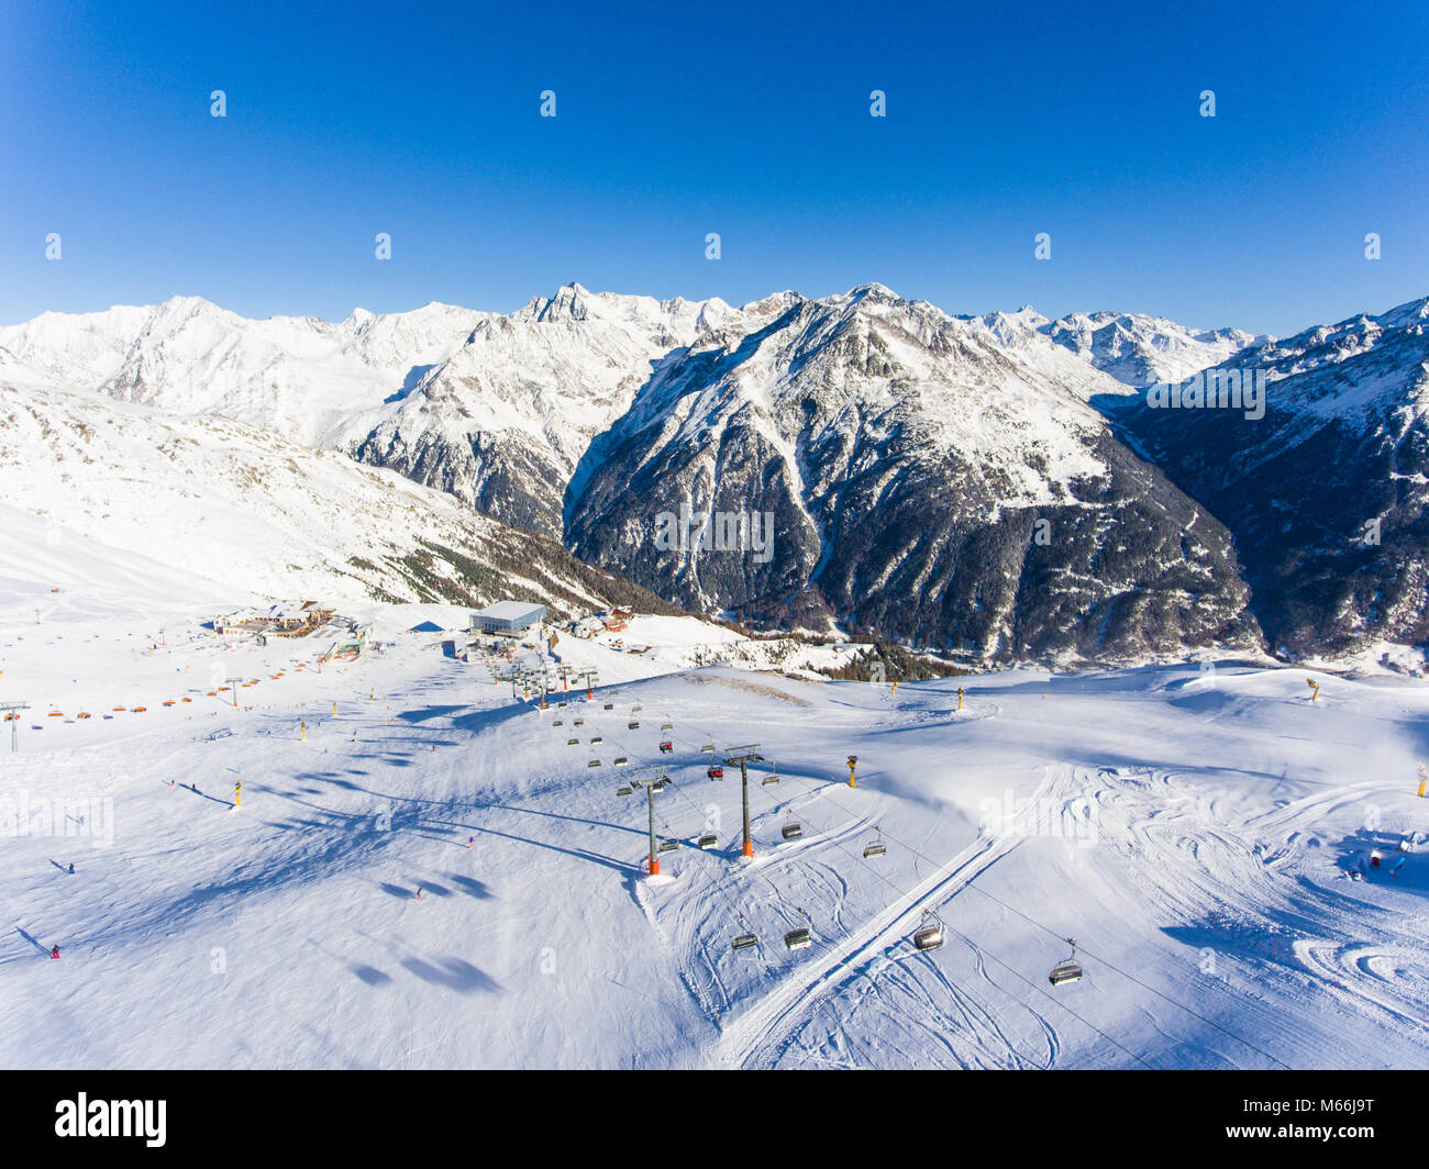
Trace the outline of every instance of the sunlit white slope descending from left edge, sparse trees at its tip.
[[667, 609], [556, 542], [394, 472], [224, 417], [3, 377], [0, 500], [46, 520], [57, 544], [147, 557], [214, 595]]

